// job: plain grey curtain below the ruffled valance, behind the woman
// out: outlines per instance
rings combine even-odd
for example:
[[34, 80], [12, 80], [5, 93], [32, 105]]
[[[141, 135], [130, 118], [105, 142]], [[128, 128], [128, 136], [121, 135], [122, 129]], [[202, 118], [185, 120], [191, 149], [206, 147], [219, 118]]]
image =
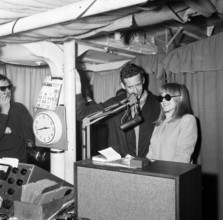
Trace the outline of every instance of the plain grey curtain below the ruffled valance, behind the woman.
[[195, 161], [202, 165], [202, 219], [223, 219], [223, 70], [172, 74], [169, 81], [187, 86], [198, 119]]

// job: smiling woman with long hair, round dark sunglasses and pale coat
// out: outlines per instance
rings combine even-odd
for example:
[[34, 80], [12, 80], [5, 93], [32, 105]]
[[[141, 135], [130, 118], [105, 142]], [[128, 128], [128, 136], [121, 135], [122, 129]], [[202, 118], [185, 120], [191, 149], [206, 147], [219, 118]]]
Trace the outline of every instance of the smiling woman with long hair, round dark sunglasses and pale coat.
[[189, 163], [197, 142], [197, 122], [188, 90], [184, 85], [167, 83], [161, 87], [160, 94], [162, 108], [146, 157]]

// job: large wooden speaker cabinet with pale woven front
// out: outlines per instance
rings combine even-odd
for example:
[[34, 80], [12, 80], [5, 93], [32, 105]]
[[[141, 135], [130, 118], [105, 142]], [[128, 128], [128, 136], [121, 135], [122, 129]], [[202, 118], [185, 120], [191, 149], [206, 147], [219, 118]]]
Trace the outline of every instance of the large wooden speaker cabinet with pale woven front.
[[74, 163], [78, 217], [91, 220], [200, 220], [201, 166], [154, 161], [124, 168]]

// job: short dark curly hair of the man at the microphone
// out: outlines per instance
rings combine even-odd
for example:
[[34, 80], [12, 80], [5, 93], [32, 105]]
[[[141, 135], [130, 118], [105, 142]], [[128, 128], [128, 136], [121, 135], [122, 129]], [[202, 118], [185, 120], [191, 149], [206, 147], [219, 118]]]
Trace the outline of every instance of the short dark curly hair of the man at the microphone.
[[133, 77], [140, 74], [141, 78], [143, 79], [145, 71], [143, 68], [133, 64], [133, 63], [127, 63], [120, 72], [120, 78], [121, 82], [124, 83], [124, 79]]

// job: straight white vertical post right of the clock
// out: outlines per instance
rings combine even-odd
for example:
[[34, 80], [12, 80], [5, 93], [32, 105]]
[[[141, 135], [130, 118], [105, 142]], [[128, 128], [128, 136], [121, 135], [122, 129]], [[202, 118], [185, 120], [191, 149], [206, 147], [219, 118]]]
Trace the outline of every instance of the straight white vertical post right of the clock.
[[73, 163], [76, 161], [76, 97], [75, 41], [64, 42], [64, 103], [66, 107], [68, 150], [65, 151], [65, 180], [74, 182]]

